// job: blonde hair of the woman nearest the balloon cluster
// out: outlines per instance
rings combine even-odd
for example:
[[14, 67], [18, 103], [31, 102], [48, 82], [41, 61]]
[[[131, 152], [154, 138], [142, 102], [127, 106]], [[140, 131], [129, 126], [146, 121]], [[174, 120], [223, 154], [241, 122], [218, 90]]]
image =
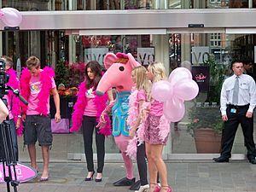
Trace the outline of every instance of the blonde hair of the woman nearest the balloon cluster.
[[153, 62], [148, 65], [148, 70], [153, 74], [153, 82], [166, 80], [166, 68], [161, 62]]

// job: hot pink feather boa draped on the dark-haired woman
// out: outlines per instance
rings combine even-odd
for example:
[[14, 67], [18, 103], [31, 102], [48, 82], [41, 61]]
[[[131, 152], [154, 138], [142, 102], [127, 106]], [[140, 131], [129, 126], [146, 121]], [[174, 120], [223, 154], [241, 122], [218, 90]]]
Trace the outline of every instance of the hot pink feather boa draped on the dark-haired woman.
[[[73, 109], [73, 114], [72, 114], [72, 127], [70, 129], [71, 132], [74, 131], [79, 131], [79, 128], [82, 125], [83, 122], [83, 116], [84, 116], [84, 108], [87, 105], [87, 98], [85, 96], [86, 92], [86, 87], [85, 83], [83, 82], [82, 84], [79, 85], [79, 93], [78, 93], [78, 100], [75, 103]], [[104, 96], [96, 96], [93, 102], [96, 104], [97, 112], [96, 112], [96, 122], [99, 123], [100, 121], [100, 116], [102, 114], [102, 111], [107, 107], [107, 102], [108, 102], [108, 95], [104, 94]], [[110, 127], [110, 119], [108, 118], [108, 114], [105, 114], [105, 119], [106, 119], [106, 125], [98, 131], [102, 135], [109, 136], [111, 135], [111, 127]]]

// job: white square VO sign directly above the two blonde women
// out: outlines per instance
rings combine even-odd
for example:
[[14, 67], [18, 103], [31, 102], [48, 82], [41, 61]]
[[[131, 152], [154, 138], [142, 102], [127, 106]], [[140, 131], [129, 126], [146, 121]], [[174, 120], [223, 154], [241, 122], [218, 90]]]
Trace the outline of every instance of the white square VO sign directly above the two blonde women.
[[137, 48], [137, 61], [142, 65], [154, 62], [154, 47]]

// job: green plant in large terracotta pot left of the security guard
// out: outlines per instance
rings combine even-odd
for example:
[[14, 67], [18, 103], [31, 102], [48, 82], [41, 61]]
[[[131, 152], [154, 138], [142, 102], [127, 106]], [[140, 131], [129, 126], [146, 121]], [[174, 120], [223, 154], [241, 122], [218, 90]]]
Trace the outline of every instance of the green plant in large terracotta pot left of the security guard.
[[207, 66], [210, 68], [210, 84], [205, 103], [194, 103], [190, 108], [188, 125], [189, 133], [195, 137], [197, 153], [219, 153], [221, 133], [224, 122], [219, 110], [219, 98], [227, 67], [218, 64], [213, 55], [209, 56]]

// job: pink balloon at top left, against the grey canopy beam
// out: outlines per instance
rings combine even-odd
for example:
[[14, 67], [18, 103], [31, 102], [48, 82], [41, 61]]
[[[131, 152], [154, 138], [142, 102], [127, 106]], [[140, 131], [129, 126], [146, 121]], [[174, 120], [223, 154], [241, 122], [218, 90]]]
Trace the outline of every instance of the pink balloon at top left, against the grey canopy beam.
[[20, 26], [22, 15], [17, 9], [3, 8], [1, 11], [3, 12], [2, 20], [6, 26]]

